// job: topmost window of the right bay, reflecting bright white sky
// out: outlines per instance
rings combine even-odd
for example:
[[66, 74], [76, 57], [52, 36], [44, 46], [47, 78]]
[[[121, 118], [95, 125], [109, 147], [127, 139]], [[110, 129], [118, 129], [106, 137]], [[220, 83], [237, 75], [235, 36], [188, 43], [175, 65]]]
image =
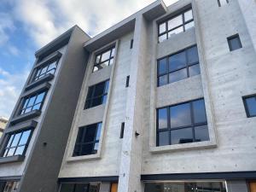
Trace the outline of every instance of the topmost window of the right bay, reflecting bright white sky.
[[180, 15], [160, 23], [158, 26], [158, 40], [159, 42], [163, 42], [167, 38], [171, 38], [177, 33], [185, 32], [193, 26], [194, 19], [192, 9], [189, 9]]

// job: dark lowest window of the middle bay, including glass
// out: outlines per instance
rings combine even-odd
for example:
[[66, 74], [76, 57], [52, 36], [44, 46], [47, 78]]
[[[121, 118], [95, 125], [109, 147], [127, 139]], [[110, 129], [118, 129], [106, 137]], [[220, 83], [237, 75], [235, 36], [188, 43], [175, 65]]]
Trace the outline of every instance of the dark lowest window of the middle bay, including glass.
[[96, 154], [102, 131], [102, 123], [79, 127], [73, 156]]

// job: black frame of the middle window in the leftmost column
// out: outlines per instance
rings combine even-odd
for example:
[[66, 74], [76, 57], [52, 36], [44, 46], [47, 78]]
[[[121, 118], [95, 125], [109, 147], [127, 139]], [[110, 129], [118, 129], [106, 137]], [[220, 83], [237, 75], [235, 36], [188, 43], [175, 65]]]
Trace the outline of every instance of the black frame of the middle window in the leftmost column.
[[[37, 103], [35, 103], [35, 102], [37, 101], [38, 96], [39, 96], [40, 94], [42, 94], [42, 93], [44, 93], [44, 98], [43, 98], [42, 102], [37, 102]], [[38, 91], [38, 92], [36, 92], [36, 93], [34, 93], [34, 94], [31, 94], [31, 95], [29, 95], [29, 96], [25, 96], [24, 98], [22, 98], [22, 102], [21, 102], [21, 106], [20, 106], [20, 111], [19, 111], [18, 114], [19, 114], [19, 115], [23, 115], [23, 114], [26, 114], [26, 113], [30, 113], [30, 112], [32, 112], [32, 111], [34, 111], [34, 110], [41, 110], [41, 109], [43, 108], [44, 101], [45, 101], [45, 98], [46, 98], [46, 96], [47, 96], [47, 93], [48, 93], [48, 90], [41, 90], [41, 91]], [[32, 109], [31, 111], [25, 113], [25, 111], [26, 111], [26, 109], [27, 109], [27, 105], [28, 105], [28, 103], [30, 102], [30, 99], [31, 99], [33, 96], [36, 96], [35, 101], [33, 102], [32, 106], [29, 107], [29, 108], [34, 108], [34, 107], [35, 107], [36, 105], [38, 105], [38, 104], [40, 104], [40, 107], [39, 107], [38, 109]], [[28, 102], [26, 102], [27, 99], [28, 99]], [[25, 104], [26, 104], [26, 108], [24, 107]], [[23, 110], [24, 110], [24, 113], [22, 113]]]

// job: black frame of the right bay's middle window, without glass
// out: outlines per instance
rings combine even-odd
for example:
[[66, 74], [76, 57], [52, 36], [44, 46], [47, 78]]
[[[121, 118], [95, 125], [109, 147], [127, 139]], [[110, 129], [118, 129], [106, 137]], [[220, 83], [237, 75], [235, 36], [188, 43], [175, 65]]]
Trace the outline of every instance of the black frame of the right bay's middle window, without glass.
[[[195, 62], [193, 62], [193, 63], [189, 63], [188, 50], [191, 49], [191, 48], [194, 48], [194, 47], [195, 47], [196, 50], [197, 50], [198, 61], [195, 61]], [[180, 53], [182, 53], [182, 52], [185, 52], [185, 55], [186, 55], [186, 58], [185, 58], [185, 59], [186, 59], [186, 66], [185, 66], [185, 67], [178, 68], [178, 69], [176, 69], [176, 70], [170, 72], [170, 70], [169, 70], [169, 66], [170, 66], [170, 65], [169, 65], [169, 57], [171, 57], [171, 56], [173, 56], [173, 55], [180, 54]], [[163, 59], [166, 59], [167, 70], [166, 70], [166, 73], [161, 73], [161, 74], [159, 74], [159, 73], [158, 73], [158, 72], [159, 72], [159, 62], [160, 62], [161, 60], [163, 60]], [[199, 61], [199, 54], [198, 54], [197, 44], [194, 44], [194, 45], [189, 46], [189, 47], [187, 47], [187, 48], [185, 48], [185, 49], [179, 50], [179, 51], [177, 51], [176, 53], [173, 53], [173, 54], [171, 54], [171, 55], [166, 55], [166, 56], [164, 56], [164, 57], [161, 57], [160, 59], [157, 60], [157, 86], [160, 87], [160, 86], [166, 85], [166, 84], [160, 85], [160, 80], [159, 80], [161, 76], [165, 76], [165, 75], [167, 75], [167, 84], [172, 84], [172, 83], [177, 82], [177, 81], [175, 81], [175, 82], [170, 82], [169, 75], [170, 75], [171, 73], [176, 73], [177, 71], [183, 70], [183, 69], [185, 69], [185, 68], [186, 68], [186, 73], [187, 73], [187, 78], [185, 78], [185, 79], [188, 79], [189, 77], [193, 77], [193, 76], [190, 76], [190, 74], [189, 74], [189, 67], [192, 67], [192, 66], [195, 66], [195, 65], [199, 65], [199, 67], [200, 67], [200, 61]], [[200, 72], [199, 74], [201, 74], [201, 72]], [[199, 75], [199, 74], [198, 74], [198, 75]], [[181, 80], [183, 80], [183, 79], [181, 79]]]

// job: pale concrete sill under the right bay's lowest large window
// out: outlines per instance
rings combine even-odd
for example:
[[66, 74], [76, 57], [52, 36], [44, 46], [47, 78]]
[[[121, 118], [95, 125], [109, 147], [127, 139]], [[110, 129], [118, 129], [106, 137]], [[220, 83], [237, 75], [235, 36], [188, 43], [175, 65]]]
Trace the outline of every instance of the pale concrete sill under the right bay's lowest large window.
[[183, 143], [183, 144], [175, 144], [175, 145], [165, 145], [159, 147], [150, 147], [149, 151], [152, 154], [165, 153], [165, 152], [175, 152], [182, 150], [193, 150], [200, 148], [216, 148], [217, 143], [207, 141], [207, 142], [196, 142], [196, 143]]

